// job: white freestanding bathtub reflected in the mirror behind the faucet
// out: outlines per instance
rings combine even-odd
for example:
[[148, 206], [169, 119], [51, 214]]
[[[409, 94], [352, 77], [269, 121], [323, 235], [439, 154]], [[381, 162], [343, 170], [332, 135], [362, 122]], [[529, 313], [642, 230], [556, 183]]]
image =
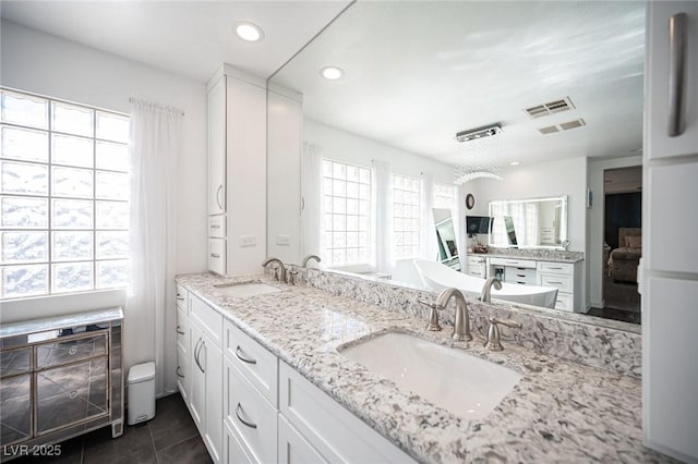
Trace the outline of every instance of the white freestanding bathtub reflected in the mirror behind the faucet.
[[[422, 283], [433, 290], [438, 291], [454, 286], [476, 298], [479, 297], [482, 292], [485, 279], [468, 276], [436, 261], [414, 259], [413, 262], [414, 268], [417, 268], [422, 279]], [[492, 286], [492, 298], [554, 308], [555, 300], [557, 300], [557, 289], [503, 282], [502, 290], [496, 290], [494, 285]]]

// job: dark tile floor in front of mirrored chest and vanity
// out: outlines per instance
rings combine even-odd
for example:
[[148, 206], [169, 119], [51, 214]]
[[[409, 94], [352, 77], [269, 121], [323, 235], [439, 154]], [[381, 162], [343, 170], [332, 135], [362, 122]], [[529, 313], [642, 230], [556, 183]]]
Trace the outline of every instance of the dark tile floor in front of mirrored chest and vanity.
[[[125, 419], [125, 417], [124, 417]], [[155, 418], [125, 427], [111, 438], [111, 427], [61, 443], [58, 457], [23, 457], [13, 464], [197, 464], [210, 463], [208, 451], [179, 393], [156, 402]]]

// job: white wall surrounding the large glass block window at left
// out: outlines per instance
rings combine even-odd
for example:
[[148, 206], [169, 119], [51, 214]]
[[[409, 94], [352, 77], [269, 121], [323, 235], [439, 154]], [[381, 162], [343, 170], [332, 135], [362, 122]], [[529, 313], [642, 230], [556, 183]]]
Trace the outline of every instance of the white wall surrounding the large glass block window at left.
[[[108, 110], [129, 112], [129, 98], [136, 97], [184, 111], [183, 146], [179, 160], [177, 272], [206, 270], [206, 87], [189, 78], [88, 48], [11, 22], [1, 25], [1, 75], [3, 86], [61, 98]], [[122, 305], [123, 291], [98, 297], [48, 296], [3, 302], [3, 322], [38, 315], [67, 314]], [[174, 295], [172, 291], [172, 306]], [[125, 321], [125, 343], [136, 346], [127, 359], [149, 357], [154, 328]], [[139, 335], [141, 333], [141, 335]], [[144, 340], [145, 339], [145, 340]], [[145, 345], [145, 349], [141, 349]]]

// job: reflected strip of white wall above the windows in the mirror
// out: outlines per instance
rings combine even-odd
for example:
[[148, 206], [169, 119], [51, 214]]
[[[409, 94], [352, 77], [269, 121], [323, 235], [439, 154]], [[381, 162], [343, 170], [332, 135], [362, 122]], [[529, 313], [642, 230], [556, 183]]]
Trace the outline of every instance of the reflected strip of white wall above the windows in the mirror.
[[393, 172], [419, 178], [431, 173], [438, 184], [453, 184], [454, 169], [425, 158], [313, 120], [303, 120], [303, 142], [323, 147], [323, 157], [357, 166], [371, 167], [371, 160], [390, 163]]

